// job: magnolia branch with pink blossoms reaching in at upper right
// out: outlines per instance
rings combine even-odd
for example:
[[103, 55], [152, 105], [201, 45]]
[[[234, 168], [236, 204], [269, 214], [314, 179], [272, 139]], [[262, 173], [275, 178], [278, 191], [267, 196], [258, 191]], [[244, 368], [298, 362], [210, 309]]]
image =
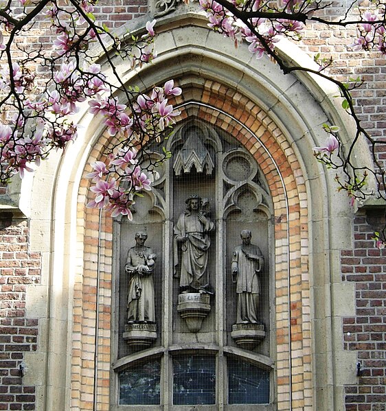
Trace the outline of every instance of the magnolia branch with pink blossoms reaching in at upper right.
[[[351, 92], [363, 85], [361, 78], [348, 78], [341, 82], [328, 73], [332, 60], [316, 56], [315, 61], [319, 69], [300, 67], [282, 58], [275, 49], [275, 44], [280, 38], [287, 37], [292, 40], [302, 40], [303, 33], [308, 23], [322, 23], [327, 27], [356, 28], [356, 36], [352, 38], [349, 48], [358, 50], [376, 50], [379, 54], [386, 55], [386, 10], [382, 0], [374, 0], [370, 9], [363, 9], [356, 1], [352, 1], [344, 16], [337, 20], [323, 19], [320, 14], [331, 6], [331, 3], [309, 0], [200, 0], [201, 8], [205, 10], [209, 19], [209, 27], [234, 40], [235, 45], [244, 41], [249, 43], [249, 51], [256, 58], [267, 54], [275, 61], [284, 74], [304, 71], [329, 80], [340, 91], [342, 106], [354, 119], [356, 130], [349, 147], [343, 147], [339, 138], [339, 128], [333, 124], [324, 124], [323, 128], [328, 133], [325, 145], [315, 147], [315, 156], [318, 161], [330, 169], [337, 171], [335, 180], [338, 189], [345, 191], [353, 205], [355, 200], [364, 200], [373, 196], [372, 189], [367, 186], [369, 174], [376, 180], [376, 195], [386, 200], [385, 164], [379, 160], [376, 152], [383, 141], [378, 141], [361, 123], [359, 113]], [[355, 8], [354, 8], [355, 6]], [[358, 18], [350, 19], [350, 14]], [[357, 165], [354, 161], [354, 150], [359, 141], [365, 139], [370, 146], [374, 167]], [[374, 239], [377, 246], [385, 246], [385, 228], [382, 235], [376, 233]]]

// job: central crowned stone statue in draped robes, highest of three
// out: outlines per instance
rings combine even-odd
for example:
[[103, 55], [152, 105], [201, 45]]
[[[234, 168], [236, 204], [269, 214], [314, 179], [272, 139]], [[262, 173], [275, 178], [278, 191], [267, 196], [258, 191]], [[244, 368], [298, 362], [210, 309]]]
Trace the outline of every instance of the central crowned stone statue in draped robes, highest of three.
[[[205, 281], [209, 231], [214, 223], [201, 210], [201, 197], [186, 199], [188, 207], [174, 226], [174, 277], [179, 277], [181, 292], [207, 292]], [[181, 251], [181, 256], [179, 255]]]

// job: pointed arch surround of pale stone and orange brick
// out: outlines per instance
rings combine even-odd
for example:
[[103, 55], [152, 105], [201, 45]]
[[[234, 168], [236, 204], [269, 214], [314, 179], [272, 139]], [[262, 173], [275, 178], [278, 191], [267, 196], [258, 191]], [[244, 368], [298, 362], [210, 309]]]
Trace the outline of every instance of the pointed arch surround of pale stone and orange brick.
[[[329, 287], [335, 282], [335, 257], [348, 242], [339, 236], [339, 226], [350, 224], [351, 211], [334, 202], [333, 176], [324, 174], [312, 148], [323, 143], [324, 122], [341, 126], [347, 138], [350, 128], [329, 98], [332, 93], [315, 78], [284, 76], [268, 59], [251, 58], [246, 47], [236, 50], [231, 43], [220, 43], [201, 16], [163, 19], [158, 32], [159, 58], [135, 73], [120, 64], [122, 78], [143, 90], [169, 78], [177, 80], [184, 91], [175, 101], [181, 106], [177, 121], [196, 117], [233, 135], [256, 158], [269, 185], [275, 217], [277, 408], [288, 409], [292, 403], [294, 410], [306, 410], [323, 403], [326, 410], [337, 409], [330, 390], [339, 380], [326, 365], [337, 332], [330, 321]], [[48, 409], [61, 409], [55, 404], [71, 404], [74, 410], [90, 406], [93, 344], [88, 337], [95, 333], [97, 270], [103, 283], [99, 327], [104, 330], [99, 335], [97, 390], [98, 401], [106, 407], [109, 403], [115, 331], [110, 328], [114, 313], [109, 311], [111, 272], [116, 270], [113, 221], [85, 208], [89, 181], [84, 178], [89, 163], [101, 158], [107, 136], [91, 115], [82, 112], [79, 122], [84, 132], [78, 141], [36, 171], [30, 194], [31, 202], [42, 189], [52, 196], [52, 204], [42, 210], [44, 218], [36, 211], [31, 215], [32, 226], [50, 238], [43, 257], [52, 301], [47, 378], [67, 370], [52, 379], [56, 382], [48, 388]], [[345, 292], [350, 295], [351, 290]], [[63, 322], [66, 335], [59, 332]], [[320, 338], [326, 339], [323, 347], [317, 344]], [[59, 360], [55, 364], [54, 358]]]

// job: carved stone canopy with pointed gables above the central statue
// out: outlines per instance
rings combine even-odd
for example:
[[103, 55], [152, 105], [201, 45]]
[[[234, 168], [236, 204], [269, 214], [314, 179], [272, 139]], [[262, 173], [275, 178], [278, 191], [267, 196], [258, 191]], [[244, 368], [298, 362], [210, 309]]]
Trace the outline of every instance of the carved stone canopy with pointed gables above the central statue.
[[173, 164], [174, 172], [177, 176], [181, 173], [188, 174], [192, 172], [192, 167], [196, 168], [196, 172], [205, 173], [210, 176], [214, 169], [214, 162], [209, 154], [209, 151], [203, 145], [203, 142], [198, 137], [196, 128], [190, 129], [181, 150], [177, 152]]

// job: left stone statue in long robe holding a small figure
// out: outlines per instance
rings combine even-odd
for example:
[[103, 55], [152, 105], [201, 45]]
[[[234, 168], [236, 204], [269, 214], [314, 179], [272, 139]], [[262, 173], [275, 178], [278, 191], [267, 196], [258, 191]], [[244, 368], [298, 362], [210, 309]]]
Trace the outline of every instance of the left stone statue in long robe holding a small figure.
[[155, 298], [152, 273], [156, 255], [145, 246], [148, 235], [135, 233], [135, 246], [127, 253], [125, 270], [130, 275], [127, 295], [127, 322], [155, 322]]

